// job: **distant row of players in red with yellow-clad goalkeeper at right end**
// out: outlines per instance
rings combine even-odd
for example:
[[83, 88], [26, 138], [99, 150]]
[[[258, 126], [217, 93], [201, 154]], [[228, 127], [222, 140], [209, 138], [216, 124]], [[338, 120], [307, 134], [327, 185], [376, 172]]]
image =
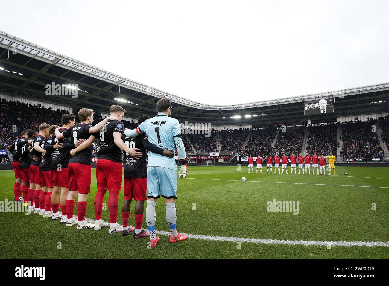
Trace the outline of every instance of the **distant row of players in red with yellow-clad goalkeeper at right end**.
[[[254, 158], [250, 155], [249, 158], [247, 158], [249, 161], [249, 172], [250, 173], [250, 168], [252, 169], [252, 173], [254, 174]], [[311, 157], [309, 156], [308, 152], [305, 153], [305, 156], [303, 157], [302, 154], [300, 153], [298, 157], [294, 156], [294, 153], [288, 158], [286, 156], [286, 153], [283, 154], [282, 157], [278, 155], [278, 153], [275, 154], [274, 158], [272, 157], [272, 154], [268, 154], [266, 157], [266, 170], [267, 173], [269, 173], [269, 168], [270, 168], [270, 174], [272, 174], [272, 163], [274, 161], [274, 173], [277, 172], [278, 168], [278, 174], [281, 174], [280, 172], [280, 161], [282, 161], [282, 174], [284, 174], [284, 170], [286, 170], [286, 174], [288, 174], [288, 168], [287, 168], [287, 163], [288, 160], [290, 160], [291, 163], [291, 173], [293, 174], [293, 168], [294, 168], [294, 174], [300, 174], [300, 170], [302, 174], [307, 174], [309, 172], [310, 175], [315, 174], [315, 168], [317, 170], [317, 175], [325, 175], [326, 174], [326, 162], [328, 160], [328, 170], [329, 174], [331, 175], [331, 168], [334, 170], [334, 175], [336, 175], [336, 170], [335, 170], [335, 161], [336, 158], [333, 156], [332, 152], [329, 153], [329, 156], [327, 158], [324, 157], [324, 154], [322, 153], [321, 156], [317, 156], [316, 152], [314, 152], [314, 155]], [[261, 156], [257, 157], [257, 173], [258, 173], [258, 168], [262, 174], [262, 161], [263, 158]], [[296, 171], [296, 161], [298, 161], [298, 173]], [[311, 174], [311, 168], [310, 168], [310, 163], [312, 162], [312, 174]], [[320, 174], [319, 174], [319, 166], [320, 166]], [[304, 173], [304, 167], [305, 167], [305, 173]]]

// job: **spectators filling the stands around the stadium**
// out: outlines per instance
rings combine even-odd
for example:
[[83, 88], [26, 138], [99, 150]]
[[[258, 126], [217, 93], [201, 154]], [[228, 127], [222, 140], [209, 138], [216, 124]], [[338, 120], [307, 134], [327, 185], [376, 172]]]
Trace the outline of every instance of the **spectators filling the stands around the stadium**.
[[[53, 110], [51, 107], [41, 107], [38, 105], [25, 104], [19, 101], [7, 101], [1, 99], [0, 104], [0, 149], [8, 149], [11, 144], [18, 138], [18, 132], [13, 132], [12, 126], [16, 125], [19, 130], [30, 128], [37, 130], [42, 122], [49, 125], [58, 124], [63, 113], [68, 111], [58, 109]], [[77, 116], [78, 110], [73, 111]], [[78, 118], [76, 118], [79, 121]], [[94, 116], [94, 122], [102, 121], [103, 118], [99, 113]], [[379, 121], [382, 133], [371, 132], [371, 125]], [[123, 120], [125, 128], [136, 128], [137, 123], [134, 121]], [[338, 139], [336, 135], [337, 125], [328, 123], [327, 125], [307, 125], [287, 127], [286, 132], [280, 130], [274, 148], [272, 142], [276, 136], [276, 128], [239, 128], [226, 130], [210, 130], [210, 136], [205, 134], [191, 134], [183, 132], [187, 136], [182, 136], [185, 149], [188, 153], [193, 153], [192, 145], [198, 154], [209, 152], [220, 152], [223, 154], [234, 153], [245, 155], [268, 153], [299, 153], [303, 146], [303, 137], [305, 126], [308, 128], [307, 152], [314, 151], [328, 154], [333, 152], [337, 154]], [[245, 148], [242, 150], [248, 134], [251, 132]], [[378, 119], [369, 118], [368, 121], [343, 122], [342, 137], [343, 149], [340, 156], [343, 158], [381, 158], [384, 156], [384, 150], [380, 146], [379, 136], [387, 147], [389, 147], [389, 116], [383, 116]], [[191, 141], [191, 143], [187, 140]], [[219, 138], [219, 145], [217, 139]], [[220, 148], [218, 148], [220, 147]], [[97, 158], [98, 144], [95, 142], [92, 147], [92, 156]], [[2, 161], [6, 161], [4, 158]]]

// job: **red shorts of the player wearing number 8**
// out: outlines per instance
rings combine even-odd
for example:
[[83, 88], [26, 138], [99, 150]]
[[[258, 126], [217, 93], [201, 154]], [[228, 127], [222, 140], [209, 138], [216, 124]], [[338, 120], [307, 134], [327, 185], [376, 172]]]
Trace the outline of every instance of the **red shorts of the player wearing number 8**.
[[80, 194], [89, 194], [91, 192], [91, 172], [91, 165], [69, 163], [69, 191], [78, 191]]

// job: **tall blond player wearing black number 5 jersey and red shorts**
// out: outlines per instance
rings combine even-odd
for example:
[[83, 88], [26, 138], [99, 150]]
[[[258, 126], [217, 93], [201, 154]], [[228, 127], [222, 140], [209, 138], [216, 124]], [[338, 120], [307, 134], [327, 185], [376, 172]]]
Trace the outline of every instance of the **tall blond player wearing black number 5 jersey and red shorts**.
[[[100, 144], [100, 150], [104, 150], [112, 145], [110, 152], [104, 153], [98, 157], [96, 164], [97, 193], [95, 197], [95, 230], [108, 226], [108, 223], [102, 221], [103, 198], [107, 189], [109, 191], [109, 233], [122, 232], [123, 227], [117, 223], [118, 197], [121, 190], [123, 164], [121, 150], [140, 158], [143, 153], [129, 148], [121, 139], [123, 135], [124, 124], [121, 121], [126, 112], [120, 105], [113, 104], [110, 107], [110, 120], [106, 122], [98, 133], [97, 138]], [[77, 153], [86, 148], [91, 141], [86, 140], [73, 152]]]

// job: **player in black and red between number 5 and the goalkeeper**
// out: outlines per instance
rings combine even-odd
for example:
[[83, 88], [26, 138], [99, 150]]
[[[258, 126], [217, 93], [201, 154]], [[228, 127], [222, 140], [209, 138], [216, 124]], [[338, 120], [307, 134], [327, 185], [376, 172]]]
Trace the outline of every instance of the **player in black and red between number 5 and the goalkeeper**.
[[[149, 116], [142, 115], [138, 119], [138, 125], [149, 119]], [[138, 135], [135, 137], [122, 136], [122, 140], [126, 146], [139, 149], [139, 152], [146, 154], [146, 149], [153, 153], [160, 154], [169, 158], [174, 156], [173, 150], [164, 150], [149, 142], [147, 134]], [[108, 147], [97, 152], [99, 158], [102, 154], [110, 153], [114, 144], [110, 144]], [[123, 153], [124, 161], [124, 204], [122, 208], [123, 218], [123, 236], [128, 235], [134, 230], [128, 226], [128, 219], [130, 218], [130, 204], [131, 200], [137, 201], [135, 205], [134, 217], [135, 217], [135, 233], [134, 239], [142, 237], [149, 237], [149, 232], [142, 230], [144, 201], [147, 200], [146, 194], [146, 173], [147, 162], [146, 157], [142, 156], [140, 159], [133, 158], [130, 154]]]

